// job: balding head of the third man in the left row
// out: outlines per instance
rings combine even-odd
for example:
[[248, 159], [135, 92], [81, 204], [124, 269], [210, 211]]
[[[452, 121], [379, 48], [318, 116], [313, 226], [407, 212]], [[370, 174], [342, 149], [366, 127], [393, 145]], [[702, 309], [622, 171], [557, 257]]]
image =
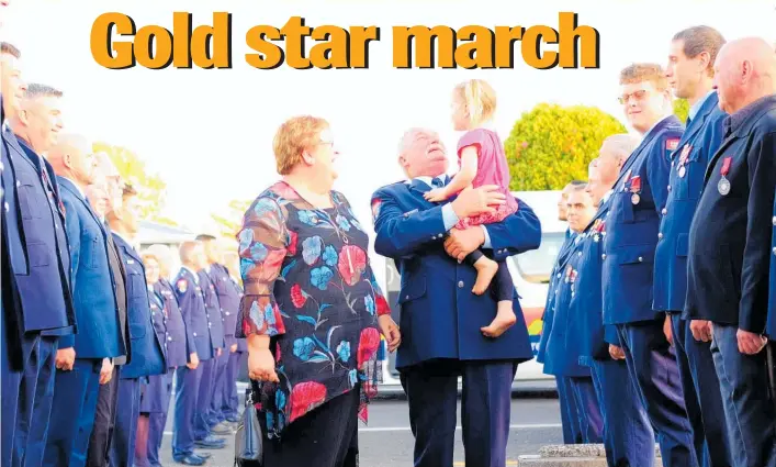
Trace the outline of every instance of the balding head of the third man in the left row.
[[82, 189], [94, 182], [94, 155], [91, 152], [91, 142], [83, 135], [60, 134], [46, 159], [58, 176], [69, 179]]

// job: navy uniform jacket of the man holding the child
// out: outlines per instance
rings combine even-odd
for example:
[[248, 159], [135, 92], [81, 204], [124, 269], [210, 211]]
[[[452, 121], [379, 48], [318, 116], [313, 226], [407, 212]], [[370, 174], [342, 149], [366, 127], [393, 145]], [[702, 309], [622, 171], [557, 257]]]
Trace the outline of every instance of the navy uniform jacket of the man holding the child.
[[[383, 187], [372, 196], [374, 251], [393, 258], [402, 277], [398, 304], [404, 343], [396, 367], [432, 358], [533, 358], [517, 296], [514, 326], [495, 340], [480, 331], [495, 316], [495, 296], [472, 293], [476, 270], [445, 252], [442, 205], [424, 199], [428, 190], [415, 180]], [[486, 229], [495, 260], [536, 249], [541, 242], [541, 224], [522, 201], [515, 214]]]

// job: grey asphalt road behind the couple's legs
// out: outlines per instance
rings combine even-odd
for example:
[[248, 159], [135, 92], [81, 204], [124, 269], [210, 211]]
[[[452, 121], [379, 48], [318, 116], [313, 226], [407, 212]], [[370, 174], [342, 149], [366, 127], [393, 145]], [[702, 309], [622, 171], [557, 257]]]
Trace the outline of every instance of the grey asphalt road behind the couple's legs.
[[[167, 431], [162, 442], [161, 460], [164, 466], [176, 464], [171, 455], [172, 407], [168, 416]], [[360, 465], [364, 467], [397, 467], [413, 465], [413, 434], [406, 401], [383, 399], [373, 401], [369, 407], [369, 426], [360, 424], [359, 451]], [[212, 454], [206, 466], [234, 467], [234, 435], [225, 436], [223, 449], [202, 449]], [[539, 447], [562, 443], [561, 418], [558, 399], [529, 394], [516, 396], [511, 400], [509, 444], [507, 465], [516, 466], [517, 456], [536, 454]], [[461, 442], [460, 402], [459, 423], [456, 440], [454, 467], [464, 467], [463, 444]], [[289, 466], [292, 467], [292, 466]], [[304, 466], [307, 467], [307, 466]]]

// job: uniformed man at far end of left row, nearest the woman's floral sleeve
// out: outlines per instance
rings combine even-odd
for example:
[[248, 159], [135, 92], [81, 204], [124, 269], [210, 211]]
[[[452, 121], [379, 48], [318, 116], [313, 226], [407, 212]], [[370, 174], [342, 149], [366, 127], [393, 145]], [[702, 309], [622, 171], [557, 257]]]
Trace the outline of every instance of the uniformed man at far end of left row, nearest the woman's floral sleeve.
[[202, 234], [196, 237], [202, 242], [207, 259], [207, 276], [213, 282], [218, 307], [221, 307], [221, 316], [224, 329], [224, 353], [217, 357], [213, 401], [211, 403], [210, 424], [213, 433], [227, 434], [232, 433], [232, 427], [224, 424], [225, 421], [238, 421], [233, 416], [227, 420], [225, 409], [226, 394], [232, 393], [232, 387], [235, 386], [237, 379], [237, 363], [239, 354], [237, 353], [237, 340], [235, 338], [235, 330], [237, 330], [237, 309], [239, 308], [239, 298], [237, 289], [232, 283], [232, 278], [226, 267], [221, 264], [222, 252], [221, 245], [215, 236]]

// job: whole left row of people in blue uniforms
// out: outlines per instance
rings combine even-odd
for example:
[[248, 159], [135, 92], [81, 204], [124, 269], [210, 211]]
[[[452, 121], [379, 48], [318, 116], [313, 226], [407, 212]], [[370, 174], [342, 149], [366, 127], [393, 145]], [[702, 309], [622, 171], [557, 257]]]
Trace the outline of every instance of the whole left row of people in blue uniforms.
[[137, 193], [85, 137], [60, 134], [63, 93], [26, 86], [19, 49], [0, 46], [1, 465], [159, 465], [168, 369], [173, 456], [202, 465], [193, 446], [223, 447], [213, 427], [237, 421], [237, 286], [212, 237], [182, 247], [176, 289], [147, 281]]

